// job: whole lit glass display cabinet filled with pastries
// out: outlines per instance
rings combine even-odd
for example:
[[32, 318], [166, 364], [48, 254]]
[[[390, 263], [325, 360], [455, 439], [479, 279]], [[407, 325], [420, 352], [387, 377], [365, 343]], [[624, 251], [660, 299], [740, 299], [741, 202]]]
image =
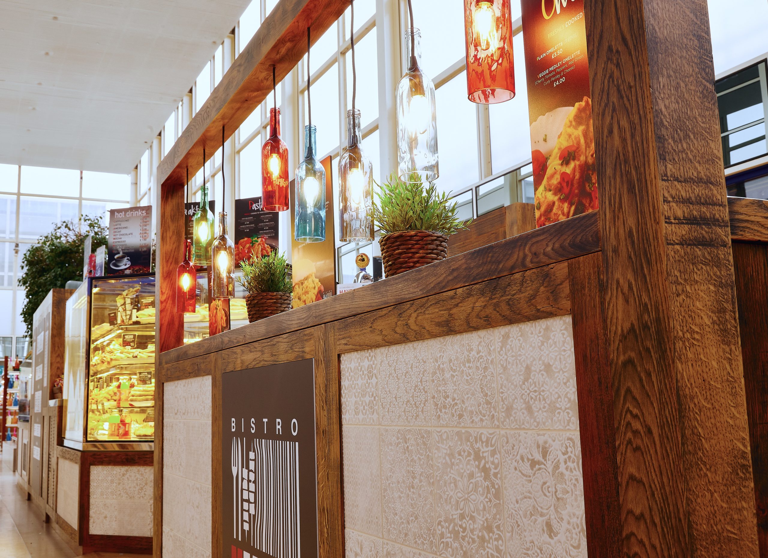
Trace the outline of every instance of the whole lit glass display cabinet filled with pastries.
[[80, 315], [67, 316], [65, 445], [151, 449], [155, 296], [154, 275], [88, 279], [72, 296]]

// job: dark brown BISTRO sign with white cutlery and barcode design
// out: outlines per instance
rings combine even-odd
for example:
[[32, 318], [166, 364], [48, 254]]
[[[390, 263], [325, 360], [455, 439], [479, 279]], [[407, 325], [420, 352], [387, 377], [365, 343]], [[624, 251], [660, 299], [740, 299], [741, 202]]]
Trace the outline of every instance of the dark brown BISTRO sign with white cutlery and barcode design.
[[220, 556], [317, 556], [312, 359], [221, 375]]

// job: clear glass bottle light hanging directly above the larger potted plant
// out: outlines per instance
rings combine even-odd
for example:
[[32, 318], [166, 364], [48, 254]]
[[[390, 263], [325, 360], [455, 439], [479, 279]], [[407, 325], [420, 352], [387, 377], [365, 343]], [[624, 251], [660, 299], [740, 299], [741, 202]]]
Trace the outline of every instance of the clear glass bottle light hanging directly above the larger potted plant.
[[409, 66], [396, 89], [398, 175], [406, 182], [439, 176], [435, 85], [421, 69], [420, 40], [419, 29], [406, 31]]

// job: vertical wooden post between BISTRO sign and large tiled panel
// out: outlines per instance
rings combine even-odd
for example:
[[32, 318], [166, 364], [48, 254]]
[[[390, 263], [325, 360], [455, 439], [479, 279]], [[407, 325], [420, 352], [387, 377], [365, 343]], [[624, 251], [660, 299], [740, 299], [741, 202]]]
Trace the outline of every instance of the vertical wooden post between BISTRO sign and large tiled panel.
[[336, 325], [314, 330], [319, 556], [344, 555], [341, 471], [341, 385]]

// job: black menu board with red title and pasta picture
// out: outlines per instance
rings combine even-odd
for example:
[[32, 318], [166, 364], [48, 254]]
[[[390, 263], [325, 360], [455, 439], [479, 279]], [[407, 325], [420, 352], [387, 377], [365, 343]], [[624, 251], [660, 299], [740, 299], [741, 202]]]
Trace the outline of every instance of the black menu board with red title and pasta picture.
[[269, 256], [280, 246], [279, 213], [263, 211], [261, 197], [235, 200], [235, 266], [253, 256]]

